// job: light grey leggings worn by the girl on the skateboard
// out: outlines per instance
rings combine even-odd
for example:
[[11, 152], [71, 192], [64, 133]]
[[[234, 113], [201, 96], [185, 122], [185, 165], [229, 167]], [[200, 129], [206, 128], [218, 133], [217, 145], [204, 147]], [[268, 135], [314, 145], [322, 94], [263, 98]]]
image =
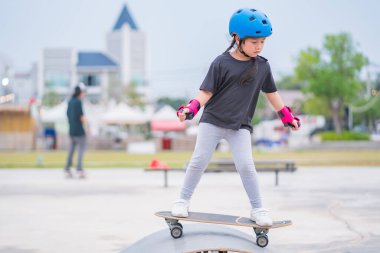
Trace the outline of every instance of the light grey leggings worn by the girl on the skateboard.
[[234, 163], [252, 208], [261, 208], [261, 194], [257, 173], [252, 159], [251, 134], [247, 129], [238, 131], [221, 128], [209, 123], [200, 123], [197, 142], [187, 167], [181, 198], [190, 200], [195, 187], [210, 162], [216, 145], [225, 139], [231, 146]]

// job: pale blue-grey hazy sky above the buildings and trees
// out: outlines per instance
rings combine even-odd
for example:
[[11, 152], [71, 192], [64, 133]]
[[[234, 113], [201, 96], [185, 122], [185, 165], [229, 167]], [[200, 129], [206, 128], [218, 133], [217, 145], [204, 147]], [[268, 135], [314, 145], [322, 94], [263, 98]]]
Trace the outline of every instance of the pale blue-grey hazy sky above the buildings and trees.
[[0, 0], [0, 66], [27, 71], [44, 48], [105, 51], [124, 4], [148, 38], [149, 83], [156, 97], [196, 94], [213, 59], [230, 42], [239, 8], [267, 14], [273, 35], [262, 56], [275, 79], [292, 74], [302, 49], [321, 48], [326, 34], [348, 32], [380, 72], [378, 0]]

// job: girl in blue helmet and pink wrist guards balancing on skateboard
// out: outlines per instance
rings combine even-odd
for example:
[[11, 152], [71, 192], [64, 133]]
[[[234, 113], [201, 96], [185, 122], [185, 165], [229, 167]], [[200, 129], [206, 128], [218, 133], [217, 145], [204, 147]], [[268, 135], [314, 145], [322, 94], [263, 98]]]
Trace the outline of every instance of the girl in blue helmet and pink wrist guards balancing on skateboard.
[[226, 139], [252, 207], [250, 219], [258, 225], [271, 226], [272, 219], [262, 205], [250, 136], [260, 90], [278, 112], [285, 126], [298, 130], [299, 119], [292, 115], [289, 107], [284, 106], [277, 93], [268, 61], [259, 56], [266, 38], [272, 34], [268, 17], [255, 9], [240, 9], [230, 19], [229, 33], [233, 41], [212, 62], [198, 95], [177, 111], [179, 120], [183, 122], [192, 119], [205, 105], [195, 150], [186, 170], [180, 199], [172, 208], [172, 215], [189, 215], [190, 198], [194, 189], [216, 145], [221, 139]]

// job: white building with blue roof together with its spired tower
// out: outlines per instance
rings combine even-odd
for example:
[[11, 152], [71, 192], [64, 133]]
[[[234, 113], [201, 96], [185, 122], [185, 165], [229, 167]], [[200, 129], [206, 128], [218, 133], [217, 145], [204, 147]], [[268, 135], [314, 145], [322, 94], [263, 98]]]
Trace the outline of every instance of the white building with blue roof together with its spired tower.
[[137, 29], [126, 5], [107, 35], [105, 52], [73, 48], [44, 49], [39, 60], [38, 97], [51, 93], [69, 97], [78, 82], [87, 86], [87, 98], [107, 102], [123, 86], [144, 86], [147, 79], [145, 35]]

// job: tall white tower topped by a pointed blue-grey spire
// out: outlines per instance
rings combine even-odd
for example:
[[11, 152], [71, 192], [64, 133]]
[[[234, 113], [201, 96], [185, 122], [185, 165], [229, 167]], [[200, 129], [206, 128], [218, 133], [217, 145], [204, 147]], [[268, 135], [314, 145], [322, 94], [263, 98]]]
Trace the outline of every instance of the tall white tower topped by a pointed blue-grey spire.
[[112, 31], [107, 34], [106, 44], [108, 55], [119, 64], [121, 84], [144, 84], [147, 76], [146, 37], [126, 4]]

